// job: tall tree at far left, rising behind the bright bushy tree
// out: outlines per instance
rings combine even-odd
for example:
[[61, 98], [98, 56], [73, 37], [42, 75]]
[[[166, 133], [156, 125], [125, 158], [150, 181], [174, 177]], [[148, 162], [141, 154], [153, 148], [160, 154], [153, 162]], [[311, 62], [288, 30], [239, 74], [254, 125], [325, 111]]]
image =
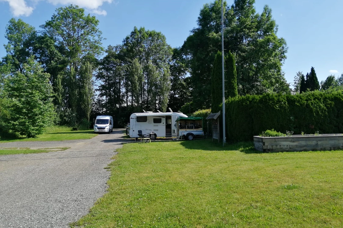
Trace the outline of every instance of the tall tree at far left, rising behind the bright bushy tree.
[[32, 42], [36, 37], [36, 29], [25, 23], [12, 18], [6, 26], [5, 38], [8, 43], [4, 45], [7, 55], [3, 58], [5, 63], [11, 64], [12, 72], [23, 71], [23, 64], [32, 54]]

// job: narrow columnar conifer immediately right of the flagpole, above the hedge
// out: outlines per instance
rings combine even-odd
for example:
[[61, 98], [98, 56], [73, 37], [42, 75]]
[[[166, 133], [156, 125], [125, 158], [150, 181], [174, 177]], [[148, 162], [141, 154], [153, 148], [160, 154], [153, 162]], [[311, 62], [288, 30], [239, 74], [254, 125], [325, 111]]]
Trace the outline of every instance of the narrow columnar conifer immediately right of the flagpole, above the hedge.
[[236, 71], [236, 62], [235, 56], [229, 51], [226, 59], [226, 74], [227, 74], [227, 95], [225, 98], [228, 97], [236, 97], [238, 96], [237, 91], [237, 71]]

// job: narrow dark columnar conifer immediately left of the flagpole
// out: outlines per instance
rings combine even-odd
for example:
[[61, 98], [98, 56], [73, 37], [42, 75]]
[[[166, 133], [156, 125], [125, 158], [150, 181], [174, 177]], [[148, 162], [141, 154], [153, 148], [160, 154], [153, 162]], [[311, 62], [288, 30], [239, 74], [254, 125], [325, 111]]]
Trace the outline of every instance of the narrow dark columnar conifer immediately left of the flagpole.
[[223, 101], [222, 72], [222, 52], [218, 51], [213, 62], [211, 77], [212, 113], [219, 111], [219, 105]]

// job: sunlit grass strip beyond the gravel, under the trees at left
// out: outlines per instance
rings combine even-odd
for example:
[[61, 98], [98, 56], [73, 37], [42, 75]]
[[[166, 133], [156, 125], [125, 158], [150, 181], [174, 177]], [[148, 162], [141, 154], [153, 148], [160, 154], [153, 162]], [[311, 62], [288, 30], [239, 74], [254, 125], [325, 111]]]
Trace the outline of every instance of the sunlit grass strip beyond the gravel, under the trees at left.
[[63, 141], [73, 139], [91, 139], [97, 134], [94, 134], [94, 130], [85, 131], [72, 131], [72, 128], [65, 126], [53, 126], [48, 127], [46, 131], [37, 136], [37, 138], [25, 138], [20, 137], [16, 139], [2, 139], [1, 142], [17, 142], [17, 141]]

